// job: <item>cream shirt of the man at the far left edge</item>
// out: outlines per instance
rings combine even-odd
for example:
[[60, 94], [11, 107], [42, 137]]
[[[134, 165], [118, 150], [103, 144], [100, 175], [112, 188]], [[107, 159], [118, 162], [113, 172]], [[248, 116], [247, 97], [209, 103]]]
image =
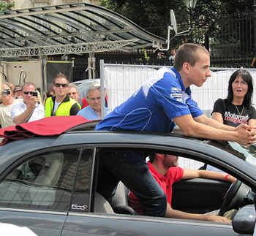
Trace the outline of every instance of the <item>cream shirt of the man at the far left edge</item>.
[[21, 102], [23, 102], [23, 99], [13, 99], [13, 102], [10, 105], [0, 104], [1, 128], [15, 126], [15, 123], [12, 122], [11, 118], [11, 109], [13, 106], [15, 106], [16, 104], [20, 104]]

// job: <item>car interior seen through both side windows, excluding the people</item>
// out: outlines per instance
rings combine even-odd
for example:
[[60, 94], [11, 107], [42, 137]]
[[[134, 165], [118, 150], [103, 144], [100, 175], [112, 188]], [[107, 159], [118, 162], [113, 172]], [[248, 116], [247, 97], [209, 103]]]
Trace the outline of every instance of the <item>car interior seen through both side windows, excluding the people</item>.
[[[99, 150], [99, 153], [110, 151], [107, 148]], [[143, 151], [145, 157], [153, 151], [159, 153], [154, 149]], [[45, 151], [24, 159], [1, 181], [0, 206], [69, 210], [75, 186], [73, 194], [77, 199], [80, 198], [80, 202], [85, 202], [85, 199], [90, 202], [91, 194], [91, 207], [85, 212], [138, 215], [129, 206], [129, 189], [123, 183], [118, 183], [112, 205], [97, 193], [98, 159], [97, 155], [94, 159], [94, 153], [94, 148], [85, 148], [82, 152], [80, 148], [66, 148], [61, 151]], [[170, 154], [197, 160], [195, 156], [188, 154]], [[173, 184], [172, 207], [187, 213], [203, 214], [218, 209], [225, 212], [253, 204], [254, 197], [252, 189], [241, 181], [231, 185], [225, 180], [194, 178]], [[76, 207], [72, 210], [79, 211]]]

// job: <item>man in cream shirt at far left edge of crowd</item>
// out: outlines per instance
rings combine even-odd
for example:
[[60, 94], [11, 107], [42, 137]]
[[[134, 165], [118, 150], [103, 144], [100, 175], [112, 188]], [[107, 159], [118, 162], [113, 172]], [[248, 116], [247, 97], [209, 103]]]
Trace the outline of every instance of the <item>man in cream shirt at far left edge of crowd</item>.
[[14, 126], [12, 122], [11, 109], [14, 105], [23, 102], [23, 99], [12, 98], [12, 87], [9, 83], [3, 83], [1, 85], [1, 104], [0, 104], [0, 122], [1, 128]]

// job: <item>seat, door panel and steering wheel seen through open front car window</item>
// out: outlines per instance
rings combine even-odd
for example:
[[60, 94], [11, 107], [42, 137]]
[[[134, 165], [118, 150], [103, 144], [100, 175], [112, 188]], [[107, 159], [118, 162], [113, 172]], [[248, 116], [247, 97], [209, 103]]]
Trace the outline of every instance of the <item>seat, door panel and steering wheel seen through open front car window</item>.
[[[203, 166], [201, 168], [203, 169]], [[97, 193], [94, 212], [138, 215], [129, 207], [128, 191], [129, 189], [119, 182], [112, 205]], [[223, 216], [227, 210], [238, 210], [244, 205], [253, 204], [254, 197], [252, 189], [239, 180], [231, 184], [225, 180], [194, 178], [173, 184], [172, 208], [199, 214], [220, 209], [219, 216]]]

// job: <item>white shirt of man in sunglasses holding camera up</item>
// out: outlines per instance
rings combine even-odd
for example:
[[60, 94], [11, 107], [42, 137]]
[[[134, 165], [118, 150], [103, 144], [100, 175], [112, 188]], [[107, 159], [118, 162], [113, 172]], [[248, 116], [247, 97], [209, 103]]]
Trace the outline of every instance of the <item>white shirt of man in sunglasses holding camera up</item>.
[[[12, 121], [15, 116], [20, 115], [26, 110], [26, 104], [24, 102], [17, 104], [12, 107], [11, 110], [11, 117]], [[45, 107], [42, 106], [42, 104], [36, 104], [36, 107], [34, 108], [34, 112], [32, 113], [31, 117], [29, 118], [29, 121], [38, 121], [39, 119], [45, 118]]]

